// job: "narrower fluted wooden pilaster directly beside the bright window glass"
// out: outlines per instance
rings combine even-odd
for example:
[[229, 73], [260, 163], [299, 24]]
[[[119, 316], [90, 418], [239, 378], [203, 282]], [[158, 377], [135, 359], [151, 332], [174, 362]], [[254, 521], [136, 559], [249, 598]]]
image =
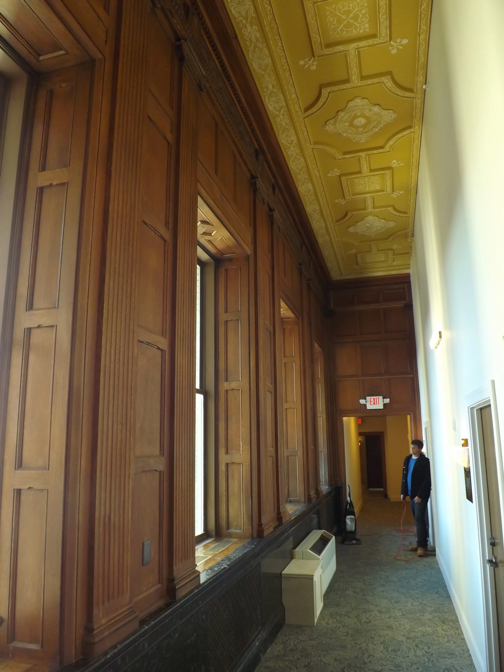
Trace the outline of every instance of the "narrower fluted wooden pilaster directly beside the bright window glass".
[[200, 581], [194, 544], [198, 88], [191, 54], [184, 43], [178, 46], [181, 77], [173, 269], [173, 321], [176, 327], [172, 369], [174, 390], [167, 586], [171, 599], [181, 597]]

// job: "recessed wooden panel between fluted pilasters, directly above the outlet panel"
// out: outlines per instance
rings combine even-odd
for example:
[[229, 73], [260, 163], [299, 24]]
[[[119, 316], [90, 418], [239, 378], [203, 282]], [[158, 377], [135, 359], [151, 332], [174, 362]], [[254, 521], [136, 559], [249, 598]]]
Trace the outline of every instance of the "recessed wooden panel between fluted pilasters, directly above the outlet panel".
[[136, 360], [135, 456], [162, 455], [165, 352], [150, 343], [138, 343]]

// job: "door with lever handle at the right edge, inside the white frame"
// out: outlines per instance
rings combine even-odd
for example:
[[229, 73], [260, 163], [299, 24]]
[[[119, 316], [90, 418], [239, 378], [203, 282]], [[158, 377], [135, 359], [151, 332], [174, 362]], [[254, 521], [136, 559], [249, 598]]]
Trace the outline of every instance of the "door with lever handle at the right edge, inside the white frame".
[[485, 473], [487, 476], [487, 501], [485, 502], [485, 509], [489, 513], [491, 530], [491, 536], [487, 540], [487, 548], [483, 550], [483, 558], [489, 558], [492, 562], [491, 566], [493, 566], [494, 561], [497, 562], [497, 566], [493, 568], [493, 579], [495, 581], [499, 653], [502, 668], [504, 661], [504, 541], [491, 406], [488, 405], [480, 409], [479, 415], [483, 452], [485, 454]]

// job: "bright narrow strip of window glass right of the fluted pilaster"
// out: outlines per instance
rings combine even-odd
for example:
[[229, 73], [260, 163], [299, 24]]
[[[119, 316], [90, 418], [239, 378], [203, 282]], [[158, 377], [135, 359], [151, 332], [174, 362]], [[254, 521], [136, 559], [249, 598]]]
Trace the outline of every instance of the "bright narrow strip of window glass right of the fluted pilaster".
[[196, 270], [196, 536], [205, 532], [205, 382], [204, 382], [204, 319], [203, 274], [200, 263]]

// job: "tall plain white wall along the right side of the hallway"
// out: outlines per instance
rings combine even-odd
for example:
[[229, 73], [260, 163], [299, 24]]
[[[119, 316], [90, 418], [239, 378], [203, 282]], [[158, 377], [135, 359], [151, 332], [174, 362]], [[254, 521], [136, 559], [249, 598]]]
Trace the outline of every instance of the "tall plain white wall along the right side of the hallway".
[[478, 671], [490, 669], [480, 542], [454, 456], [491, 379], [504, 419], [503, 28], [502, 0], [433, 3], [411, 272], [437, 558]]

